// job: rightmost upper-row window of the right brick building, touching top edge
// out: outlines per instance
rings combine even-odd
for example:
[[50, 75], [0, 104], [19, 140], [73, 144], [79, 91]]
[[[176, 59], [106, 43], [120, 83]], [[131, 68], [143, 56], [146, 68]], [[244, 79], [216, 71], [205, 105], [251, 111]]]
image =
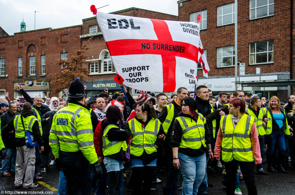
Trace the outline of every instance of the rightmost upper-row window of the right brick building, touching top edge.
[[274, 0], [250, 0], [250, 19], [274, 14]]

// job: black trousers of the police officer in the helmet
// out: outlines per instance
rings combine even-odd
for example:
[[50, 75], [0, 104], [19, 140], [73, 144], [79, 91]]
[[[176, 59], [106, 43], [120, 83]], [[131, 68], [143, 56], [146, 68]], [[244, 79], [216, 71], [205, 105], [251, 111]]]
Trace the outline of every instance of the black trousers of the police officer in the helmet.
[[91, 171], [89, 161], [81, 151], [60, 151], [60, 161], [67, 180], [67, 194], [90, 194]]

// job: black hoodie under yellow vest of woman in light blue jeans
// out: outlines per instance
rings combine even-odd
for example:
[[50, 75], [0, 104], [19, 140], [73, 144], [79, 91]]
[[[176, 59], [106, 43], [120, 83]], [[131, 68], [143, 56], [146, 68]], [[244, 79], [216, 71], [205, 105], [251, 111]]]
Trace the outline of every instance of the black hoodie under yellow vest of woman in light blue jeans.
[[[190, 118], [191, 120], [197, 121], [200, 117], [199, 114], [196, 113], [196, 119], [192, 118], [188, 114], [179, 113], [178, 116], [183, 116], [186, 118]], [[208, 129], [207, 123], [204, 125], [205, 127], [205, 144], [210, 144], [210, 131]], [[174, 126], [173, 126], [173, 133], [171, 135], [171, 146], [172, 148], [178, 148], [179, 153], [186, 154], [188, 156], [199, 156], [205, 152], [207, 152], [207, 147], [204, 147], [203, 144], [201, 144], [201, 147], [199, 149], [192, 149], [192, 148], [179, 148], [180, 142], [182, 137], [182, 127], [178, 120], [175, 120]]]

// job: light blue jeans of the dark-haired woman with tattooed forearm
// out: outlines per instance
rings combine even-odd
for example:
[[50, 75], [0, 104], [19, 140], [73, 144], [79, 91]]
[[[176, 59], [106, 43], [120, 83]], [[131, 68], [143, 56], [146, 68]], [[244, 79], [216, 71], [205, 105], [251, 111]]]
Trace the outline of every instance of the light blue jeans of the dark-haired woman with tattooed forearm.
[[178, 153], [178, 158], [183, 177], [182, 195], [196, 195], [206, 172], [206, 154], [193, 157]]

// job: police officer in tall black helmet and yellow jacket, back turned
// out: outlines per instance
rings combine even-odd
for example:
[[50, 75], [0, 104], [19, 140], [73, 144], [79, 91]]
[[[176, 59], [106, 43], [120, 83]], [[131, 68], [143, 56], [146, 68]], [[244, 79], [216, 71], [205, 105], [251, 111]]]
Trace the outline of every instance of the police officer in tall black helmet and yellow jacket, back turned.
[[55, 114], [49, 135], [55, 166], [63, 170], [69, 194], [90, 194], [89, 163], [94, 165], [97, 176], [102, 173], [93, 144], [91, 109], [85, 106], [85, 95], [83, 83], [76, 78], [67, 93], [69, 104]]

